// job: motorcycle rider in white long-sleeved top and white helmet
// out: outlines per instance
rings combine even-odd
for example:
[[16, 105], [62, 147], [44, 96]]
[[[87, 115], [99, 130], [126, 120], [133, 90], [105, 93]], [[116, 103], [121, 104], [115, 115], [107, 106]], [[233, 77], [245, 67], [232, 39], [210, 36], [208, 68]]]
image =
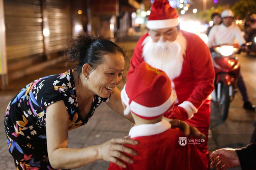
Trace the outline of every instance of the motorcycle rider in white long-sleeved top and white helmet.
[[[241, 34], [238, 26], [232, 26], [232, 20], [234, 19], [234, 14], [231, 10], [223, 10], [221, 12], [222, 23], [220, 25], [215, 25], [209, 32], [208, 36], [208, 47], [218, 46], [222, 44], [234, 44], [235, 38], [237, 39], [240, 46], [245, 46], [245, 39]], [[237, 79], [237, 87], [242, 94], [244, 100], [244, 109], [255, 111], [255, 105], [251, 104], [246, 91], [246, 86], [242, 78], [241, 73]]]

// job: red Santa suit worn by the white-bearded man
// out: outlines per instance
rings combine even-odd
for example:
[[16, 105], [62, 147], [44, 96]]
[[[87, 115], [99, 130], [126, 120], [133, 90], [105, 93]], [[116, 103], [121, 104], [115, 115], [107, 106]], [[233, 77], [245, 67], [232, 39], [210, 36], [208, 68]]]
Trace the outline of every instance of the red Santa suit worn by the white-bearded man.
[[[214, 88], [214, 68], [208, 47], [199, 36], [181, 31], [177, 38], [179, 39], [179, 44], [182, 44], [180, 51], [183, 54], [183, 61], [181, 61], [180, 70], [178, 70], [177, 66], [179, 64], [172, 63], [173, 56], [176, 54], [168, 53], [165, 61], [158, 59], [158, 56], [154, 57], [154, 59], [150, 59], [150, 56], [145, 56], [150, 55], [150, 52], [144, 53], [143, 51], [149, 37], [149, 33], [146, 33], [139, 39], [131, 58], [127, 78], [143, 61], [165, 71], [171, 79], [172, 88], [177, 95], [175, 105], [185, 109], [188, 114], [186, 122], [208, 136], [210, 94]], [[175, 72], [175, 70], [178, 71]], [[164, 114], [164, 116], [171, 119], [176, 118], [172, 117], [171, 114]], [[206, 155], [209, 154], [207, 141], [208, 138], [202, 145], [197, 145]]]

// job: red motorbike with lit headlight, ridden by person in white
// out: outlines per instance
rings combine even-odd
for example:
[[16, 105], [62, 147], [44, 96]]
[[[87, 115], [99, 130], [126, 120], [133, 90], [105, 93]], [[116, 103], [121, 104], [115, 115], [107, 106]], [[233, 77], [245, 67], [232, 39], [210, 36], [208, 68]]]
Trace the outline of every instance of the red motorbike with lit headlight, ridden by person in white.
[[233, 44], [223, 44], [211, 48], [215, 70], [212, 100], [220, 113], [221, 121], [227, 119], [230, 102], [237, 92], [240, 63], [236, 54], [240, 52], [241, 47]]

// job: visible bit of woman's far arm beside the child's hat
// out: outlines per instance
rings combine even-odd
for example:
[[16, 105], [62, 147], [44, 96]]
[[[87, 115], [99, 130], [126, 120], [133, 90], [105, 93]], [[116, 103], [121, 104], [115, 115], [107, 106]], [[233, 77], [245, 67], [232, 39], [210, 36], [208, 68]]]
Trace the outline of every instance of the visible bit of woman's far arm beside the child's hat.
[[127, 116], [124, 115], [124, 107], [122, 105], [121, 100], [121, 92], [116, 87], [113, 89], [113, 92], [111, 93], [111, 97], [109, 99], [109, 102], [107, 102], [107, 105], [114, 111], [116, 111], [121, 116], [125, 117], [129, 121], [131, 121], [133, 124], [135, 124], [135, 121], [133, 120], [133, 117], [131, 114], [128, 114]]

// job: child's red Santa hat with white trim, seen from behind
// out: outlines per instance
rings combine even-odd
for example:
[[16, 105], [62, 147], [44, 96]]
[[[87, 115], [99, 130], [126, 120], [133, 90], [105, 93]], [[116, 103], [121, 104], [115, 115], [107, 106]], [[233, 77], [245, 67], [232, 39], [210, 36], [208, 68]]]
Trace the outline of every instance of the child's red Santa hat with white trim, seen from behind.
[[133, 112], [143, 119], [155, 119], [170, 110], [176, 94], [166, 73], [142, 62], [129, 76], [121, 91], [125, 115]]

